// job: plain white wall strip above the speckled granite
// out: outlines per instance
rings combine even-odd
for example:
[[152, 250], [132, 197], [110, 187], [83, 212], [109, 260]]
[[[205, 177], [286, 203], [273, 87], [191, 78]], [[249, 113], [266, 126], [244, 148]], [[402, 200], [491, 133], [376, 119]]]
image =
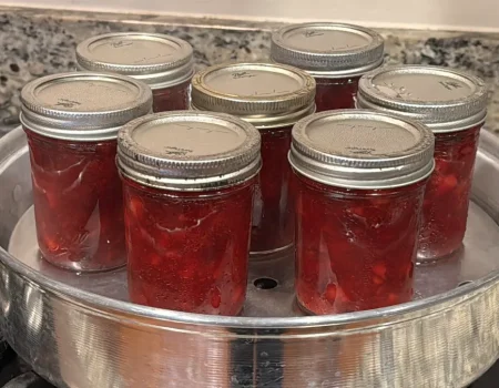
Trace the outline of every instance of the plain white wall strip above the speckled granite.
[[499, 31], [499, 0], [0, 0], [35, 8]]

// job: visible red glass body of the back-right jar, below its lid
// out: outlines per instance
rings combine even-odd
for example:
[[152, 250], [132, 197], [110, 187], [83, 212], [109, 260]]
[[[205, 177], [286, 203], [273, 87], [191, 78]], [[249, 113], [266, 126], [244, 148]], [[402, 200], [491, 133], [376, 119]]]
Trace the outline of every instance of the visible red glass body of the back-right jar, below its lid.
[[317, 112], [354, 109], [359, 79], [359, 76], [346, 79], [316, 78], [315, 103]]

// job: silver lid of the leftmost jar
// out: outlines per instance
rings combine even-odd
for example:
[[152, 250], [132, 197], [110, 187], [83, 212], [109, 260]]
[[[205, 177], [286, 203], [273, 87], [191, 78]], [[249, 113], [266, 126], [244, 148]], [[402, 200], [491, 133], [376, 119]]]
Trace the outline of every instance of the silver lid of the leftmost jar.
[[39, 78], [21, 91], [21, 123], [71, 141], [116, 139], [129, 121], [151, 112], [151, 89], [138, 80], [86, 72]]

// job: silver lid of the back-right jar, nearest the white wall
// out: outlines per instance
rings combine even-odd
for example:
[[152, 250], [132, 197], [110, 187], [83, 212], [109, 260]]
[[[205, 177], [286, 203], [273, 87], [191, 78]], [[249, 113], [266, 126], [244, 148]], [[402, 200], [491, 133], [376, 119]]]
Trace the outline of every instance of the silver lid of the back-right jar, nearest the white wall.
[[343, 23], [303, 23], [272, 34], [271, 58], [317, 78], [358, 76], [384, 60], [384, 40], [373, 30]]

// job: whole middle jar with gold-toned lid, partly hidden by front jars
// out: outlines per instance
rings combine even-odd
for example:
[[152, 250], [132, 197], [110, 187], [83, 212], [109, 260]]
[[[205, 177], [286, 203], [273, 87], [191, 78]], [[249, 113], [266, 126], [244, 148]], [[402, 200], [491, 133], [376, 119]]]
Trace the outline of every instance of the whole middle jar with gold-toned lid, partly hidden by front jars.
[[255, 125], [263, 167], [256, 185], [251, 252], [269, 256], [294, 242], [291, 167], [292, 125], [315, 110], [315, 82], [305, 72], [272, 63], [235, 63], [194, 75], [192, 108], [225, 112]]

